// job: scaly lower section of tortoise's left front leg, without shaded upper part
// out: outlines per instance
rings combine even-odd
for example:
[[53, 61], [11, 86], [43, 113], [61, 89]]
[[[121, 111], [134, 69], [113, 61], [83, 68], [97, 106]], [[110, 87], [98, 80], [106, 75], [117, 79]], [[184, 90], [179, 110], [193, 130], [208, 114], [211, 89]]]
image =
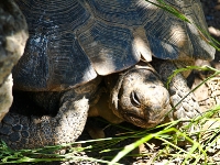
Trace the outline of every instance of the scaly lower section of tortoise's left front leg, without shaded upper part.
[[89, 99], [64, 99], [55, 117], [9, 112], [0, 123], [0, 139], [12, 148], [34, 148], [74, 142], [84, 130]]

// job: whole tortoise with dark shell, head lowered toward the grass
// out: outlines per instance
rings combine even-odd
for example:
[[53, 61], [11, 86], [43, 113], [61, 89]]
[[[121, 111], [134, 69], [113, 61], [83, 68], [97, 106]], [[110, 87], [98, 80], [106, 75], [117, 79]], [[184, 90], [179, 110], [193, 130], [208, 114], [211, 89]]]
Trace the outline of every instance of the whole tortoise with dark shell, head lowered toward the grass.
[[[190, 90], [180, 74], [166, 89], [167, 77], [196, 58], [210, 61], [215, 55], [193, 24], [144, 0], [15, 2], [25, 15], [30, 37], [13, 68], [14, 89], [26, 91], [53, 114], [8, 113], [0, 138], [11, 147], [75, 141], [89, 106], [100, 98], [103, 78], [116, 117], [142, 128], [155, 127]], [[207, 30], [199, 1], [166, 2]], [[190, 94], [170, 118], [194, 118], [198, 110]]]

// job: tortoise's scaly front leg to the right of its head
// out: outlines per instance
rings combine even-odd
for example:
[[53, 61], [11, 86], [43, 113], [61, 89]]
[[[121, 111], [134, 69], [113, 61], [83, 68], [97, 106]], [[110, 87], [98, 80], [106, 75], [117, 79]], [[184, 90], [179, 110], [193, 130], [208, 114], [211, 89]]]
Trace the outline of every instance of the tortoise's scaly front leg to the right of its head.
[[[158, 61], [152, 65], [162, 76], [162, 80], [165, 85], [167, 84], [168, 77], [177, 69], [176, 65], [168, 61]], [[174, 120], [193, 119], [199, 114], [199, 105], [196, 97], [190, 92], [190, 88], [182, 74], [177, 74], [172, 78], [168, 84], [168, 91], [174, 108]]]

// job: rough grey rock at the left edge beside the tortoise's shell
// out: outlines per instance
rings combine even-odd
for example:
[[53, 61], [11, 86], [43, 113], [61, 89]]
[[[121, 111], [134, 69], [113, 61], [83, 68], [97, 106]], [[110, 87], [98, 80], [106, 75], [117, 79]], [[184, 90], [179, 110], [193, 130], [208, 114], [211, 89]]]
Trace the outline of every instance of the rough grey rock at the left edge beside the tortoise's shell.
[[12, 103], [11, 70], [28, 40], [25, 18], [13, 1], [0, 2], [0, 121]]

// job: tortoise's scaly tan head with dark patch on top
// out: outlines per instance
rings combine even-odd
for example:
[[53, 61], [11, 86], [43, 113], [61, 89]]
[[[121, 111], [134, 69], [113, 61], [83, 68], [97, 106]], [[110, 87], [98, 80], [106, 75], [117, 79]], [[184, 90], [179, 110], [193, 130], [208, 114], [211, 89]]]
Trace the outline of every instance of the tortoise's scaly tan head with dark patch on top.
[[141, 128], [157, 125], [170, 110], [169, 94], [148, 66], [135, 66], [122, 74], [111, 97], [114, 114]]

